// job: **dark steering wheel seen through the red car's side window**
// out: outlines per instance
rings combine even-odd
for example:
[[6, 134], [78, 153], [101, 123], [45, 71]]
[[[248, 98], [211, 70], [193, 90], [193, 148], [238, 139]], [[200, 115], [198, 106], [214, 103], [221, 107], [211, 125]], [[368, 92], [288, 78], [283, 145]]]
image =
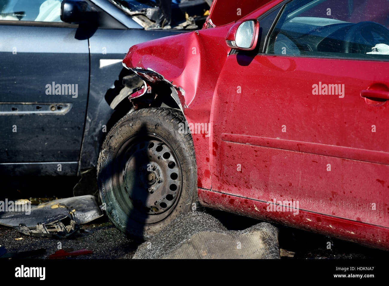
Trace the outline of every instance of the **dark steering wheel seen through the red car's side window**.
[[[362, 36], [361, 31], [363, 30], [368, 30], [370, 32], [370, 39], [366, 39]], [[389, 30], [385, 26], [375, 22], [364, 21], [352, 25], [351, 28], [346, 32], [346, 36], [343, 42], [343, 51], [345, 53], [353, 53], [355, 51], [353, 46], [357, 44], [372, 44], [375, 46], [375, 44], [373, 44], [374, 38], [371, 32], [375, 32], [385, 39], [385, 43], [376, 44], [389, 44]], [[369, 40], [369, 42], [367, 40]]]

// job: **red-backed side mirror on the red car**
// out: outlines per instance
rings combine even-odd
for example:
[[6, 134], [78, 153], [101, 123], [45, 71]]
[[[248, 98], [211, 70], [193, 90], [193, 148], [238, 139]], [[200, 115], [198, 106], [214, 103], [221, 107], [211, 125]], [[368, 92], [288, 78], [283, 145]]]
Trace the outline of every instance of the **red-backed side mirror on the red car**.
[[257, 46], [258, 34], [257, 19], [238, 21], [228, 31], [226, 43], [231, 49], [252, 51]]

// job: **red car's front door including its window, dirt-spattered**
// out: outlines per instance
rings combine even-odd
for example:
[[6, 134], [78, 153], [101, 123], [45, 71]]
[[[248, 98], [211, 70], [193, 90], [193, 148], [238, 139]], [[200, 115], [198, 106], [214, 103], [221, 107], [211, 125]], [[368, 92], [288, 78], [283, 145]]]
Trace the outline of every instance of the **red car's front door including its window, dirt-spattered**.
[[317, 16], [326, 2], [289, 2], [256, 54], [228, 56], [212, 102], [212, 189], [389, 227], [389, 30], [375, 22], [389, 10], [355, 25], [350, 1]]

